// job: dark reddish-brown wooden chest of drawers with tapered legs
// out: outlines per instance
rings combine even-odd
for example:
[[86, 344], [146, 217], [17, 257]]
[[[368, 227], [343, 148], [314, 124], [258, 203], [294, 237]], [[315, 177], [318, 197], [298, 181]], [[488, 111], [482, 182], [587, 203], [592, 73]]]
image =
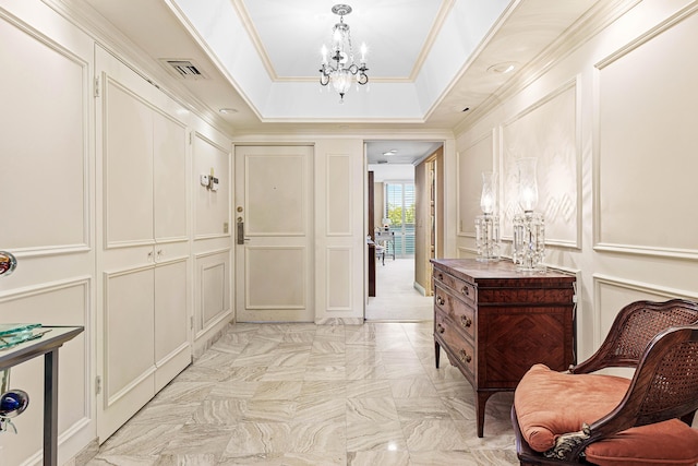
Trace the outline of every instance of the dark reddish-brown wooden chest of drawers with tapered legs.
[[541, 362], [553, 370], [574, 363], [575, 277], [517, 273], [509, 261], [432, 260], [434, 344], [474, 389], [478, 437], [488, 398], [516, 389]]

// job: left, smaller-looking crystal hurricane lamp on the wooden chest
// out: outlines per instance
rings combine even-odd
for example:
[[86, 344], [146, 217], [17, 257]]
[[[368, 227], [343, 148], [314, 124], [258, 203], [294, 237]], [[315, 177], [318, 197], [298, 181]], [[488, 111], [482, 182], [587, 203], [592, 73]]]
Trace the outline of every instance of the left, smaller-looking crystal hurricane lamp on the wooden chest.
[[496, 206], [497, 174], [482, 174], [482, 194], [480, 208], [483, 215], [476, 217], [476, 246], [478, 261], [500, 260], [500, 217], [494, 213]]

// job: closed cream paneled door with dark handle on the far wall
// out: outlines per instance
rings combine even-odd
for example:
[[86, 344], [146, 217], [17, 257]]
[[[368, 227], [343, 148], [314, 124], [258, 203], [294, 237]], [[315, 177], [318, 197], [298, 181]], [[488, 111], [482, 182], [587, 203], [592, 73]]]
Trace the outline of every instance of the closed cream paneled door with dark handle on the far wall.
[[238, 322], [312, 322], [311, 146], [236, 148]]

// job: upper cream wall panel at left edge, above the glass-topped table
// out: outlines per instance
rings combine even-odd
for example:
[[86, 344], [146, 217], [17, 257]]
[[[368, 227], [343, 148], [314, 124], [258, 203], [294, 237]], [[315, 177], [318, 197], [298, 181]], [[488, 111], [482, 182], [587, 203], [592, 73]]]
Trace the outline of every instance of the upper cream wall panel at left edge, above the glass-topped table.
[[[17, 252], [89, 244], [88, 64], [0, 21], [0, 243]], [[27, 60], [26, 57], [32, 57]], [[57, 92], [60, 89], [60, 92]], [[16, 200], [21, 202], [10, 202]]]

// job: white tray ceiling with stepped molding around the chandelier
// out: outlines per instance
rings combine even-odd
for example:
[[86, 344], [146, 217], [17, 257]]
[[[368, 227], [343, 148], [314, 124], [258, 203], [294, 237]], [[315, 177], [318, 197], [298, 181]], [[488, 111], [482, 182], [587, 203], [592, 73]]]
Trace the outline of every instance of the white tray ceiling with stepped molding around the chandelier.
[[[52, 1], [93, 24], [111, 23], [119, 40], [146, 57], [137, 64], [155, 81], [173, 76], [163, 60], [192, 60], [205, 79], [168, 80], [170, 85], [231, 134], [361, 132], [371, 139], [372, 132], [390, 131], [405, 140], [462, 126], [470, 113], [495, 101], [507, 81], [522, 80], [527, 63], [564, 33], [627, 2], [347, 0], [353, 11], [345, 22], [354, 47], [369, 46], [370, 88], [352, 88], [339, 105], [338, 96], [327, 87], [321, 92], [317, 82], [320, 48], [329, 43], [338, 20], [330, 9], [338, 2]], [[517, 69], [492, 70], [508, 62]], [[221, 115], [220, 108], [234, 111]], [[431, 142], [412, 142], [417, 152], [418, 146], [433, 152]]]

